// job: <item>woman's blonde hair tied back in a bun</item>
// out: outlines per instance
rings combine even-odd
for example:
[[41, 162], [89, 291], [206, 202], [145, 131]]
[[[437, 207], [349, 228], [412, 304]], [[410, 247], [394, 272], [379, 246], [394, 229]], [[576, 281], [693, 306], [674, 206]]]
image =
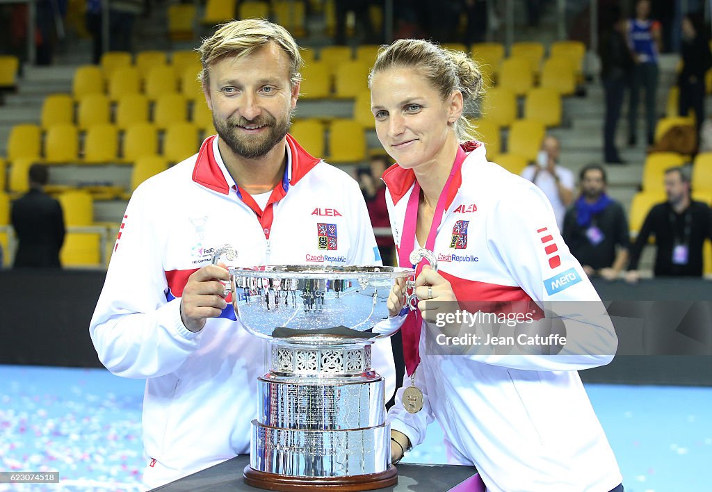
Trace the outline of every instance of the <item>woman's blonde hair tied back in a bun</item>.
[[475, 110], [484, 93], [482, 73], [472, 58], [462, 51], [441, 48], [422, 39], [399, 39], [390, 46], [382, 46], [376, 63], [368, 75], [371, 87], [375, 74], [387, 68], [416, 68], [445, 100], [454, 90], [459, 90], [464, 110], [455, 122], [455, 132], [460, 142], [476, 138], [475, 127], [465, 112]]

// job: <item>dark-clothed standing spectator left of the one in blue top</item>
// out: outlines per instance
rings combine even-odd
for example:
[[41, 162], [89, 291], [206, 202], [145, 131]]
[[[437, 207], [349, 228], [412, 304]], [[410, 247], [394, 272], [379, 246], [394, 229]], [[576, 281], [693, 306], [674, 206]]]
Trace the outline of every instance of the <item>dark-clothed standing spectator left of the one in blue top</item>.
[[616, 148], [616, 127], [621, 114], [623, 96], [631, 83], [633, 57], [625, 37], [626, 20], [613, 17], [613, 23], [601, 36], [601, 80], [606, 95], [606, 117], [603, 126], [603, 155], [605, 162], [622, 164]]

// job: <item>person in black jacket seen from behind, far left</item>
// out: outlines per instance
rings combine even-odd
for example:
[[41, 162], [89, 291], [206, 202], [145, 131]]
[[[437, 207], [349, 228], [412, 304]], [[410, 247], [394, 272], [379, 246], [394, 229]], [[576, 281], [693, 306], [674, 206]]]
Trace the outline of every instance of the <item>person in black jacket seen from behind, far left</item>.
[[30, 191], [12, 204], [11, 221], [19, 241], [14, 268], [61, 267], [59, 250], [64, 243], [64, 216], [59, 202], [43, 191], [47, 178], [46, 166], [32, 164]]

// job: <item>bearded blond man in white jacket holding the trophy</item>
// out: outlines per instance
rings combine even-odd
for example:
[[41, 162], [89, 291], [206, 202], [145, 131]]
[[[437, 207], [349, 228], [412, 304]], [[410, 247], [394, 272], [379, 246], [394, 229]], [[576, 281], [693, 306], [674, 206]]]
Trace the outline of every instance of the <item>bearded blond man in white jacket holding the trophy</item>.
[[[216, 248], [236, 248], [232, 266], [319, 256], [379, 263], [357, 183], [288, 135], [301, 66], [288, 31], [264, 20], [232, 21], [200, 53], [218, 135], [134, 192], [90, 325], [109, 370], [147, 379], [149, 487], [250, 448], [266, 344], [234, 321], [221, 283], [229, 273], [211, 264]], [[325, 222], [338, 234], [329, 255], [318, 241]], [[390, 397], [387, 341], [374, 354]]]

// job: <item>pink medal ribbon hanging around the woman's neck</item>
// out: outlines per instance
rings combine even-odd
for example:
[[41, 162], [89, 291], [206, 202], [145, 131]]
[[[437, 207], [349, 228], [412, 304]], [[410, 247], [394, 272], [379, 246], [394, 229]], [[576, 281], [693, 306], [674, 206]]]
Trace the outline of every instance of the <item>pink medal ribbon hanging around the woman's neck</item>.
[[[450, 176], [445, 182], [445, 187], [440, 192], [440, 197], [438, 198], [438, 203], [435, 206], [435, 213], [433, 215], [433, 221], [430, 224], [430, 231], [428, 233], [428, 239], [425, 241], [425, 248], [433, 251], [435, 247], [435, 238], [437, 235], [438, 226], [442, 220], [442, 216], [445, 213], [445, 204], [447, 201], [448, 190], [452, 183], [453, 178], [456, 176], [462, 167], [462, 163], [467, 157], [467, 153], [462, 149], [462, 147], [457, 147], [457, 155], [455, 156], [455, 163], [453, 164], [452, 170], [450, 171]], [[408, 200], [408, 205], [405, 211], [405, 221], [403, 224], [403, 236], [401, 237], [400, 248], [398, 250], [398, 263], [399, 266], [405, 268], [416, 268], [415, 276], [417, 277], [422, 271], [422, 263], [417, 266], [410, 262], [410, 253], [412, 253], [415, 247], [415, 229], [418, 223], [418, 203], [420, 201], [420, 185], [417, 180], [414, 184], [413, 191], [410, 194]], [[408, 312], [406, 320], [403, 322], [401, 328], [401, 333], [403, 337], [403, 358], [405, 361], [406, 372], [410, 376], [417, 369], [420, 363], [420, 352], [419, 352], [419, 342], [420, 342], [420, 332], [423, 327], [423, 316], [419, 309], [410, 310]]]

